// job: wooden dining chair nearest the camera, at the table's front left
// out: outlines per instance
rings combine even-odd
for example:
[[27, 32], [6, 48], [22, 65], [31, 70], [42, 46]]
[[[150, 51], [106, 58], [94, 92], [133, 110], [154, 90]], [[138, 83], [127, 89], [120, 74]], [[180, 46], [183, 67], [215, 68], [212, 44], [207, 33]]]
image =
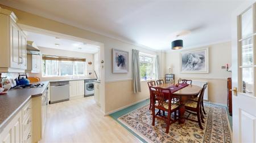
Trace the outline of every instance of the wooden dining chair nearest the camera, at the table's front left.
[[[155, 125], [155, 118], [158, 118], [160, 120], [164, 120], [166, 122], [166, 133], [169, 132], [170, 125], [172, 123], [175, 123], [177, 121], [177, 111], [179, 111], [179, 105], [176, 103], [172, 103], [169, 101], [172, 101], [172, 92], [171, 89], [168, 88], [159, 88], [159, 87], [153, 87], [152, 89], [152, 125]], [[166, 100], [163, 91], [168, 91], [169, 96], [168, 100]], [[158, 112], [155, 114], [155, 109], [158, 109]], [[161, 115], [161, 111], [167, 112], [167, 117], [165, 114]], [[174, 119], [171, 119], [171, 114], [174, 112]]]

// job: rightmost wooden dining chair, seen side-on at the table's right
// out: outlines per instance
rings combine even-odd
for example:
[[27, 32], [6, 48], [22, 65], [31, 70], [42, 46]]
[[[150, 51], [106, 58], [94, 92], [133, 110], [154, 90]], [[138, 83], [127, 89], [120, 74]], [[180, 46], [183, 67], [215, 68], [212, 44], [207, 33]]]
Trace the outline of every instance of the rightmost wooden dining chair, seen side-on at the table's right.
[[[204, 123], [203, 112], [201, 110], [201, 101], [203, 100], [204, 91], [205, 91], [206, 88], [207, 88], [207, 84], [204, 84], [203, 88], [200, 91], [199, 100], [198, 101], [188, 100], [185, 103], [185, 109], [189, 113], [188, 116], [186, 117], [186, 119], [191, 120], [193, 122], [199, 123], [200, 129], [203, 129], [203, 126], [202, 126], [201, 122]], [[188, 117], [191, 114], [196, 115], [197, 116], [197, 120], [189, 119]]]

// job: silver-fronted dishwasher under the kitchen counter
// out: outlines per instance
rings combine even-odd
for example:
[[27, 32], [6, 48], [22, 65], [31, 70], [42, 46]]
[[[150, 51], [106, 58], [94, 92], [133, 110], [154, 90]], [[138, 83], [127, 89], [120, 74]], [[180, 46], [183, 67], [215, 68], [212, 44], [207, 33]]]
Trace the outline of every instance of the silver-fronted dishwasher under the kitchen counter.
[[50, 104], [69, 100], [69, 81], [51, 82]]

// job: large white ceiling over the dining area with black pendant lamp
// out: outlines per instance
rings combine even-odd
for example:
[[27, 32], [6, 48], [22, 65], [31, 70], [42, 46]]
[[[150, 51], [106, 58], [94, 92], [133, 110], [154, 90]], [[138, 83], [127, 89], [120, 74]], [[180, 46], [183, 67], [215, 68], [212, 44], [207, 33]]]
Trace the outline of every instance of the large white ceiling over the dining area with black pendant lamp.
[[232, 11], [246, 0], [0, 0], [49, 19], [152, 49], [168, 50], [180, 31], [184, 47], [231, 40]]

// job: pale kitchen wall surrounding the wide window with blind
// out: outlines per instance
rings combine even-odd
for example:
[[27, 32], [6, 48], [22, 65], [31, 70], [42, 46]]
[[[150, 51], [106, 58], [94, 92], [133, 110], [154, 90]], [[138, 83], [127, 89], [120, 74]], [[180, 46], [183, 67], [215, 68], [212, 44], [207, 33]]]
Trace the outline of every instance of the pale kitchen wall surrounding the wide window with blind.
[[[94, 78], [94, 59], [93, 54], [89, 53], [81, 53], [76, 51], [67, 51], [67, 50], [59, 50], [59, 49], [51, 49], [45, 47], [39, 47], [42, 54], [45, 55], [59, 55], [63, 57], [74, 57], [74, 58], [86, 58], [86, 68], [85, 68], [85, 76], [79, 76], [76, 78], [86, 78], [92, 77]], [[89, 65], [88, 62], [92, 62], [92, 65]], [[89, 75], [89, 72], [92, 72], [92, 75]], [[42, 73], [28, 73], [28, 76], [36, 76], [39, 77], [42, 81], [49, 80], [62, 80], [62, 79], [72, 79], [72, 76], [64, 76], [64, 77], [42, 77]]]

